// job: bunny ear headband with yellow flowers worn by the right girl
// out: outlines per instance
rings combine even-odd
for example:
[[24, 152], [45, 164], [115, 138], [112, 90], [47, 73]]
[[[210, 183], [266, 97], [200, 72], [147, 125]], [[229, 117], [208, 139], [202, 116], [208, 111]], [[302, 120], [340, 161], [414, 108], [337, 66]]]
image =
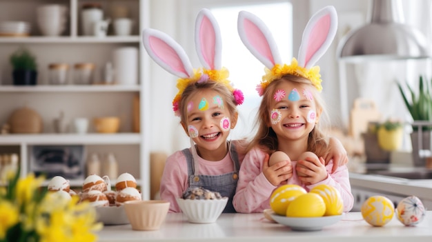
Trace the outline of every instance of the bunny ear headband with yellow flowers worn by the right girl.
[[246, 48], [266, 66], [266, 74], [257, 85], [259, 96], [275, 79], [293, 74], [309, 79], [317, 90], [322, 90], [320, 67], [313, 66], [330, 47], [337, 30], [337, 13], [327, 6], [309, 19], [302, 36], [299, 57], [291, 65], [282, 64], [279, 50], [265, 23], [250, 12], [239, 12], [237, 29]]

